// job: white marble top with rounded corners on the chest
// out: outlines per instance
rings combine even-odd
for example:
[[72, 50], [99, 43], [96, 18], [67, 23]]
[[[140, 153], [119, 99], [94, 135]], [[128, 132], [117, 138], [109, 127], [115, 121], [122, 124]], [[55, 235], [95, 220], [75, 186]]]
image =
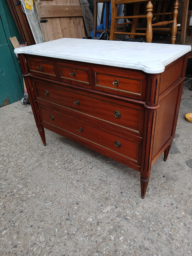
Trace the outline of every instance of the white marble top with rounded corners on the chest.
[[14, 52], [139, 69], [157, 74], [190, 50], [189, 45], [61, 38], [16, 48]]

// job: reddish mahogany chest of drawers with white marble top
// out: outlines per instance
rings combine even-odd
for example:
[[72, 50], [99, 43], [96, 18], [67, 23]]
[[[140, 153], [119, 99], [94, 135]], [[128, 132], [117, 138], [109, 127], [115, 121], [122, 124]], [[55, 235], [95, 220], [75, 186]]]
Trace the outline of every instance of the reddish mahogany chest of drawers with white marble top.
[[163, 152], [166, 161], [175, 135], [190, 47], [164, 45], [172, 53], [159, 60], [157, 44], [93, 41], [15, 49], [35, 122], [44, 145], [46, 128], [138, 170], [144, 198], [151, 166]]

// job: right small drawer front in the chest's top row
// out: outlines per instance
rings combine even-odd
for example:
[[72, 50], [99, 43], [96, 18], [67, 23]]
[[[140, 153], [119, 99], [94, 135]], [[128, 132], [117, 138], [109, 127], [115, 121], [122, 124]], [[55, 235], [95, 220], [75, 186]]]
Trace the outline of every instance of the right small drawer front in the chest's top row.
[[94, 89], [124, 97], [144, 100], [146, 76], [108, 69], [93, 68]]

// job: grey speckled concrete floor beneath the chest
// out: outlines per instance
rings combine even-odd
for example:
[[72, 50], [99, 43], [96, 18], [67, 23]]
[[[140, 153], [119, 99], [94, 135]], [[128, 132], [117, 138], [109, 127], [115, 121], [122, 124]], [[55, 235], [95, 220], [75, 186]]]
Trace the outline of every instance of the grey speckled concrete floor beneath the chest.
[[190, 87], [143, 200], [139, 172], [48, 130], [45, 147], [30, 105], [0, 108], [0, 255], [192, 255]]

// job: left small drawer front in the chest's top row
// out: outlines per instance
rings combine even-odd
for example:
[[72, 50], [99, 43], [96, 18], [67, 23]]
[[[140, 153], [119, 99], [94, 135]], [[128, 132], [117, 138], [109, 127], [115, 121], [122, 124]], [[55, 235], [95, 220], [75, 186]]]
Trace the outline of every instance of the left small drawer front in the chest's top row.
[[54, 61], [27, 57], [27, 63], [31, 74], [56, 79], [56, 65]]

